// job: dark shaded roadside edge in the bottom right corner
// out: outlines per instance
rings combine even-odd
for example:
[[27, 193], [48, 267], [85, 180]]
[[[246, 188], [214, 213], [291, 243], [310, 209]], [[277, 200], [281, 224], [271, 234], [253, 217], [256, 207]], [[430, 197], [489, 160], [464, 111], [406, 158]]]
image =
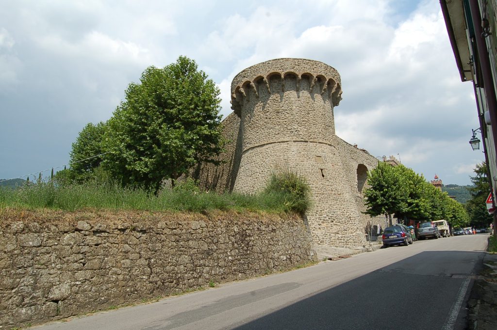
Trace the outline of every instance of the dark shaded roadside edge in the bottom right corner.
[[497, 254], [483, 258], [480, 276], [475, 279], [468, 301], [468, 329], [497, 329]]

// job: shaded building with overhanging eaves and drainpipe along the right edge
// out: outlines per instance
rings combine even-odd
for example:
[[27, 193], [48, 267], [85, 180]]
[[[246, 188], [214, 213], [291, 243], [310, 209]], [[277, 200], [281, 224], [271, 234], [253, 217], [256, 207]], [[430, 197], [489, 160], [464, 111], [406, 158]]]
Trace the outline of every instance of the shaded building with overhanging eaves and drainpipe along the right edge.
[[[461, 81], [471, 81], [475, 91], [482, 146], [489, 183], [497, 187], [497, 0], [440, 0], [449, 40]], [[476, 131], [476, 132], [475, 132]], [[494, 213], [494, 227], [497, 214]]]

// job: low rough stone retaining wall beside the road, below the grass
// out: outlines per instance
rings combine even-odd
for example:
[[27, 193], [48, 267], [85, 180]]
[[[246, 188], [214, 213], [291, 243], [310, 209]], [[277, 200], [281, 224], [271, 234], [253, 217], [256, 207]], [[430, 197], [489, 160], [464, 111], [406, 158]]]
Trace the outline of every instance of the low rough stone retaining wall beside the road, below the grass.
[[294, 215], [3, 210], [0, 325], [34, 325], [315, 260]]

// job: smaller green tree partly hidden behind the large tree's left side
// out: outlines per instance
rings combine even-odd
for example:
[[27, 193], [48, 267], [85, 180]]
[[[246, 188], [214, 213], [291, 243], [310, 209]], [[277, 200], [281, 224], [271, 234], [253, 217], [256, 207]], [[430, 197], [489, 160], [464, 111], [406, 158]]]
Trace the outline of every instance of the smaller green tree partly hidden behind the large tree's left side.
[[97, 155], [104, 152], [102, 141], [105, 130], [105, 123], [100, 122], [96, 125], [88, 123], [79, 133], [69, 154], [71, 162], [71, 168], [68, 170], [69, 178], [82, 182], [92, 176], [103, 159], [102, 156]]

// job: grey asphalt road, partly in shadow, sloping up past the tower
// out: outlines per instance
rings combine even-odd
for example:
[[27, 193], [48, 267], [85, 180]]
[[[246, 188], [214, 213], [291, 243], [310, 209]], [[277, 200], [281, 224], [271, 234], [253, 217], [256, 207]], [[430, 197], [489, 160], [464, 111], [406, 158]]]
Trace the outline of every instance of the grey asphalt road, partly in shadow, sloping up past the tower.
[[418, 241], [37, 330], [462, 330], [488, 235]]

